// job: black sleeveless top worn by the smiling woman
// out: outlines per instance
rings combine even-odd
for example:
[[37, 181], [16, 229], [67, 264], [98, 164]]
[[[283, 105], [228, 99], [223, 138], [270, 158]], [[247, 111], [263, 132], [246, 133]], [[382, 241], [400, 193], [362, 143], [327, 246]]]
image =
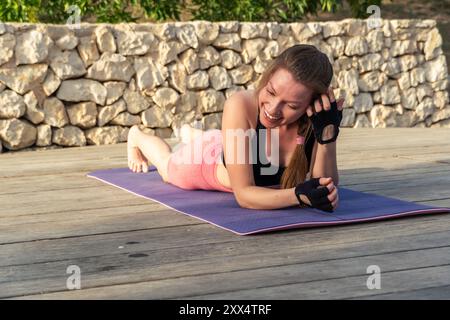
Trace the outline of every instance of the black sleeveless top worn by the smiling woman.
[[[259, 121], [259, 110], [258, 110], [258, 119], [257, 119], [257, 125], [256, 125], [256, 135], [255, 135], [256, 136], [256, 152], [257, 152], [258, 156], [256, 157], [256, 163], [253, 164], [253, 177], [255, 179], [255, 185], [257, 185], [257, 186], [278, 185], [278, 184], [280, 184], [281, 176], [283, 175], [283, 172], [286, 169], [286, 167], [278, 167], [277, 173], [273, 174], [273, 175], [268, 175], [268, 174], [261, 175], [261, 168], [268, 168], [271, 166], [271, 163], [269, 162], [267, 164], [262, 164], [259, 159], [260, 145], [259, 145], [258, 137], [259, 137], [260, 129], [266, 129], [266, 127], [264, 127], [262, 125], [262, 123]], [[262, 150], [266, 150], [266, 141], [267, 141], [266, 133], [267, 133], [267, 131], [263, 131], [263, 134], [262, 134], [262, 137], [264, 137], [263, 141], [261, 141], [261, 148], [263, 148]], [[255, 138], [255, 137], [253, 137], [253, 138]], [[252, 143], [253, 143], [253, 141], [252, 141]], [[312, 132], [311, 132], [311, 134], [305, 141], [305, 152], [306, 152], [306, 158], [308, 159], [308, 169], [309, 169], [310, 163], [311, 163], [313, 147], [314, 147], [314, 134], [312, 134]], [[265, 152], [263, 153], [263, 155], [265, 156]], [[224, 166], [226, 167], [225, 156], [224, 156], [223, 151], [222, 151], [222, 161], [223, 161]], [[265, 162], [267, 162], [267, 161], [265, 161]]]

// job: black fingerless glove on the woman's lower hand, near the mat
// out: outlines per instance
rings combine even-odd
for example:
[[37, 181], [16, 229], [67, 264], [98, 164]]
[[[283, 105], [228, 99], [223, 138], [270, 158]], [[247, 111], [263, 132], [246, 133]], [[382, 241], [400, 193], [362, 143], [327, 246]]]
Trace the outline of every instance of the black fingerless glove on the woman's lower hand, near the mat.
[[[313, 178], [307, 180], [304, 183], [300, 183], [295, 187], [295, 195], [297, 196], [300, 207], [310, 207], [319, 210], [333, 212], [333, 206], [331, 201], [328, 199], [329, 190], [327, 187], [321, 187], [319, 183], [320, 178]], [[300, 199], [300, 195], [303, 194], [311, 202], [311, 206], [304, 203]]]

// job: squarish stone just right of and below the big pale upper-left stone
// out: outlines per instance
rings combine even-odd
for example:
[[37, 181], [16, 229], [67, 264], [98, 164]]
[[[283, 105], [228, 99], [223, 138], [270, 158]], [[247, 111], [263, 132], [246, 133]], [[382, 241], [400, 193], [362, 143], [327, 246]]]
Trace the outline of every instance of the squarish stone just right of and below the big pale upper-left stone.
[[76, 51], [53, 51], [50, 68], [62, 80], [78, 78], [86, 74], [84, 63]]

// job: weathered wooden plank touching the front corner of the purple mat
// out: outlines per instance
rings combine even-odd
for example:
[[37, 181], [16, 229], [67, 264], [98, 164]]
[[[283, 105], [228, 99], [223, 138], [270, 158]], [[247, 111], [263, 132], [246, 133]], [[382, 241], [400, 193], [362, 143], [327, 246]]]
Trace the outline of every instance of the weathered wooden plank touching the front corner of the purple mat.
[[[304, 230], [301, 237], [298, 232], [289, 232], [245, 240], [198, 225], [188, 230], [168, 228], [104, 235], [106, 242], [100, 236], [33, 242], [24, 244], [20, 253], [14, 250], [15, 245], [7, 245], [2, 246], [0, 259], [8, 262], [0, 268], [0, 278], [4, 279], [0, 293], [11, 296], [59, 291], [65, 283], [62, 270], [72, 264], [84, 270], [87, 288], [448, 246], [448, 223], [421, 222], [402, 227], [393, 226], [392, 221], [383, 227], [368, 224], [360, 230], [355, 230], [355, 226], [321, 228]], [[138, 244], [127, 246], [130, 241]], [[242, 241], [246, 241], [245, 245]], [[38, 252], [36, 248], [43, 244], [42, 256], [28, 253]], [[86, 246], [90, 248], [88, 252]], [[125, 248], [118, 249], [119, 246]], [[285, 280], [274, 276], [273, 281]]]

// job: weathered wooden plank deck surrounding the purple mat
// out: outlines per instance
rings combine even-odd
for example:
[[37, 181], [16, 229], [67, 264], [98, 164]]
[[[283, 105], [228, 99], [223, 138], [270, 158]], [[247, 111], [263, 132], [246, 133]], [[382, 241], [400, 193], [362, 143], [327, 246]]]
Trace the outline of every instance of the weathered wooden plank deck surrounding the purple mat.
[[[450, 299], [450, 214], [237, 236], [86, 177], [125, 151], [0, 155], [0, 297]], [[344, 128], [338, 165], [343, 187], [450, 207], [448, 128]]]

